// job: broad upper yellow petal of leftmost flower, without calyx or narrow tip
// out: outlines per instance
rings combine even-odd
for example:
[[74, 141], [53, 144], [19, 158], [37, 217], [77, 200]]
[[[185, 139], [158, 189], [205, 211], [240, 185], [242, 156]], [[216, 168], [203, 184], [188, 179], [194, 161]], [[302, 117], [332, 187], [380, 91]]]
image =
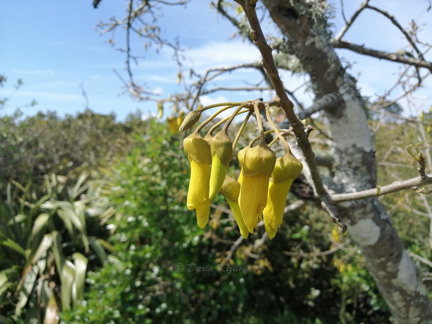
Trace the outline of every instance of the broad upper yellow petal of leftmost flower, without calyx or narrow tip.
[[193, 210], [205, 202], [210, 206], [210, 164], [197, 162], [191, 156], [188, 158], [191, 162], [191, 180], [187, 191], [187, 209]]

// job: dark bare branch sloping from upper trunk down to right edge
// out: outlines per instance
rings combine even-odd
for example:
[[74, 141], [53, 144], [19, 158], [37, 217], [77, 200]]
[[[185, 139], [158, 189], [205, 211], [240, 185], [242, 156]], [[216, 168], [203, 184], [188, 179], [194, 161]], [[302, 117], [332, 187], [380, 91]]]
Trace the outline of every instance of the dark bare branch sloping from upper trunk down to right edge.
[[432, 72], [432, 63], [425, 60], [421, 60], [419, 58], [404, 57], [401, 55], [397, 55], [396, 53], [377, 51], [371, 48], [365, 48], [363, 45], [350, 43], [349, 41], [334, 41], [332, 42], [332, 44], [334, 48], [345, 48], [359, 54], [379, 58], [380, 60], [382, 59], [382, 60], [388, 60], [392, 62], [409, 64], [409, 65], [413, 65], [414, 67], [425, 67], [426, 69]]

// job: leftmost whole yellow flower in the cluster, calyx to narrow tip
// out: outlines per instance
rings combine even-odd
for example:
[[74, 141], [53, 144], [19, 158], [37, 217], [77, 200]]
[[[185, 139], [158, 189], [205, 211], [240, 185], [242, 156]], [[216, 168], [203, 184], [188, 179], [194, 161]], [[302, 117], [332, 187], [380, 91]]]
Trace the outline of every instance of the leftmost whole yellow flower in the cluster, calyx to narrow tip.
[[191, 162], [191, 180], [187, 191], [187, 209], [197, 211], [197, 222], [201, 229], [209, 221], [210, 213], [210, 145], [197, 133], [183, 141], [184, 151]]

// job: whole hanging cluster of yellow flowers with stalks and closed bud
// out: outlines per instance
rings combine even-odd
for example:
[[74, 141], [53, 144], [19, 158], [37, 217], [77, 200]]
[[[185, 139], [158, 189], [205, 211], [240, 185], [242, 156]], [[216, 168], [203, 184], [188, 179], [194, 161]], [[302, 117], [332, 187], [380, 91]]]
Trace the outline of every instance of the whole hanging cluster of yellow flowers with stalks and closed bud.
[[[286, 140], [271, 121], [268, 106], [264, 107], [267, 118], [277, 134], [276, 139], [284, 144], [286, 151], [285, 156], [278, 159], [265, 142], [257, 102], [219, 104], [221, 105], [225, 107], [200, 124], [197, 130], [183, 141], [184, 151], [191, 162], [187, 208], [196, 210], [198, 226], [202, 229], [209, 219], [210, 201], [220, 192], [227, 200], [243, 237], [253, 234], [258, 222], [264, 220], [265, 230], [269, 237], [273, 238], [282, 224], [289, 187], [302, 171], [303, 165], [292, 155]], [[215, 106], [218, 105], [191, 111], [181, 124], [180, 130], [191, 128], [200, 118], [202, 111]], [[217, 114], [235, 106], [238, 108], [229, 118], [214, 125], [206, 137], [200, 136], [200, 130]], [[248, 109], [241, 111], [244, 107]], [[238, 138], [254, 111], [260, 129], [260, 142], [253, 146], [254, 140], [238, 152], [242, 168], [237, 181], [227, 175], [227, 170]], [[234, 117], [244, 112], [248, 112], [248, 115], [233, 143], [227, 129]], [[213, 131], [224, 122], [226, 124], [223, 129], [213, 137]]]

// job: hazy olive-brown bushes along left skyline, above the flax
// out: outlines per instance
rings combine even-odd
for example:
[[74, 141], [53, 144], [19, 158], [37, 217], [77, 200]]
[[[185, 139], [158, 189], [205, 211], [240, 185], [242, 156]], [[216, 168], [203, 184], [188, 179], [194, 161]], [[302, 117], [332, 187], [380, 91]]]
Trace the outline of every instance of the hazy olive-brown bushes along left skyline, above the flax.
[[0, 190], [10, 178], [17, 181], [32, 174], [34, 181], [54, 172], [75, 179], [83, 170], [110, 164], [126, 154], [135, 136], [145, 128], [141, 114], [130, 114], [125, 123], [114, 114], [95, 114], [90, 110], [59, 118], [56, 113], [38, 113], [22, 118], [0, 118]]

